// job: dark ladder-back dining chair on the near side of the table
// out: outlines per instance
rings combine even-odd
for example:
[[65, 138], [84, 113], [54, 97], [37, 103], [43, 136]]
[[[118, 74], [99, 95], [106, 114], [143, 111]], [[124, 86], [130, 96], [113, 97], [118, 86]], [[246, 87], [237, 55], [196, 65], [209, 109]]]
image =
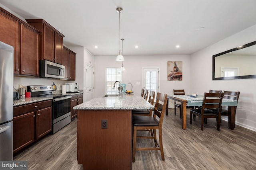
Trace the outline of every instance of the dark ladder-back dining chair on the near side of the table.
[[204, 130], [204, 118], [215, 118], [217, 120], [217, 130], [220, 130], [220, 109], [223, 93], [204, 93], [204, 100], [201, 109], [190, 109], [190, 124], [192, 124], [192, 115], [201, 118], [201, 130]]

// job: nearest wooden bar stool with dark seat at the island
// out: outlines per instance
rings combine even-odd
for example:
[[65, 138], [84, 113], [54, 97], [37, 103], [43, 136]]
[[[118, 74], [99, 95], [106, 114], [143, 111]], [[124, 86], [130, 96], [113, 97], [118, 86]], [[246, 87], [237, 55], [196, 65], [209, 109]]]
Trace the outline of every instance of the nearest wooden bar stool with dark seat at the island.
[[[135, 153], [136, 150], [160, 150], [162, 160], [164, 160], [164, 150], [163, 150], [163, 141], [162, 141], [162, 124], [164, 119], [164, 112], [166, 110], [167, 104], [167, 94], [157, 93], [156, 95], [156, 104], [154, 107], [153, 116], [132, 116], [132, 127], [133, 127], [133, 144], [132, 144], [132, 162], [135, 162]], [[153, 130], [152, 136], [137, 136], [137, 131], [139, 130]], [[156, 139], [156, 129], [158, 129], [159, 143]], [[137, 148], [136, 142], [137, 138], [144, 139], [154, 139], [155, 147], [142, 147]]]

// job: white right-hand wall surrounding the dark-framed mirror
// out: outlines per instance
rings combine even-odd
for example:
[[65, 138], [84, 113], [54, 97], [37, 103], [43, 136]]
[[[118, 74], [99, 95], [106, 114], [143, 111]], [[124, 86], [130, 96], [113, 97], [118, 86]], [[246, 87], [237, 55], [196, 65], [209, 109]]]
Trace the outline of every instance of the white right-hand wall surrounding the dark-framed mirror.
[[[240, 91], [236, 124], [256, 131], [256, 79], [212, 80], [212, 55], [256, 41], [256, 25], [191, 55], [191, 92]], [[255, 63], [256, 64], [256, 63]]]

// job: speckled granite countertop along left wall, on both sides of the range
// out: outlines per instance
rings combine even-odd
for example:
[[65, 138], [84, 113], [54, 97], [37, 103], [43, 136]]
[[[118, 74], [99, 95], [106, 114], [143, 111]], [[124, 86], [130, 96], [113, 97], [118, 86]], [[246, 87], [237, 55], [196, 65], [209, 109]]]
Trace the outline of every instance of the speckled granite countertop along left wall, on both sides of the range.
[[[66, 93], [70, 96], [73, 96], [73, 95], [77, 95], [77, 94], [82, 94], [84, 92], [78, 92], [78, 93]], [[61, 94], [61, 93], [54, 93], [54, 94]], [[34, 102], [41, 102], [41, 101], [44, 101], [44, 100], [51, 100], [53, 99], [52, 97], [49, 97], [49, 98], [22, 98], [20, 100], [14, 100], [13, 101], [13, 106], [19, 106], [19, 105], [23, 105], [23, 104], [30, 104], [30, 103], [34, 103]]]

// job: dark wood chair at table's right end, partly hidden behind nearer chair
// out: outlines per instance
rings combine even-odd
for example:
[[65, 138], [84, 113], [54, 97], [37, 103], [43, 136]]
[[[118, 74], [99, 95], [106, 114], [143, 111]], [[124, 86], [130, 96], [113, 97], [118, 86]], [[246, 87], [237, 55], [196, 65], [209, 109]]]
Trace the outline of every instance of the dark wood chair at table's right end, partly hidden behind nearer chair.
[[[224, 91], [224, 99], [229, 99], [229, 100], [237, 100], [239, 99], [240, 92], [229, 92], [229, 91]], [[237, 107], [237, 106], [236, 106]], [[235, 107], [235, 115], [234, 115], [234, 127], [236, 127], [236, 107]], [[221, 116], [230, 116], [228, 115], [228, 110], [221, 108], [220, 110], [220, 115]], [[228, 118], [230, 120], [230, 118]]]

